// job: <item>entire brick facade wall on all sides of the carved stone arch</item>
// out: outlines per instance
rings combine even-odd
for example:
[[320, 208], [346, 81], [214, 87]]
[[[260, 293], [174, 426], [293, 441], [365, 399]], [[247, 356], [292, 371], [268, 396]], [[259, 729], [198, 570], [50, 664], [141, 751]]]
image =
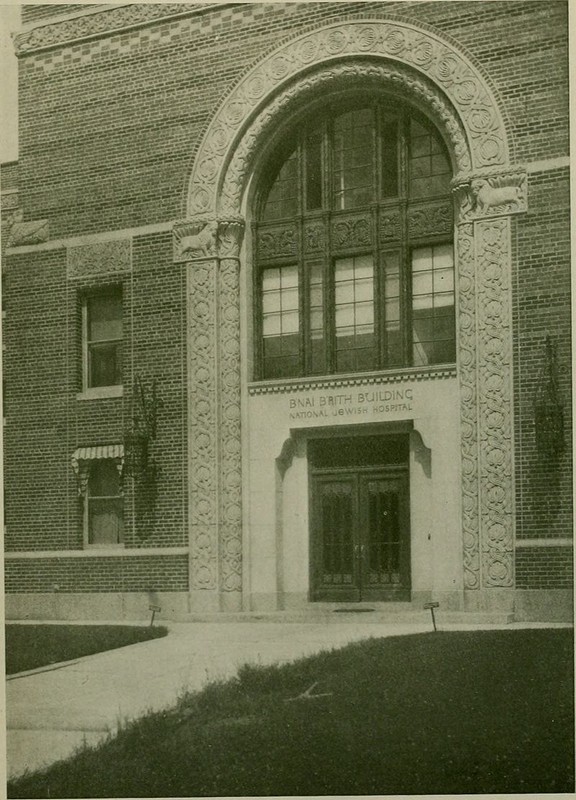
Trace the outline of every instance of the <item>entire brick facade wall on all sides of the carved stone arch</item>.
[[[64, 8], [77, 7], [59, 7], [58, 13]], [[55, 7], [30, 6], [23, 18], [41, 22], [54, 13]], [[227, 4], [218, 9], [197, 5], [185, 16], [23, 55], [21, 157], [18, 167], [3, 167], [3, 188], [12, 186], [18, 170], [25, 219], [48, 218], [53, 239], [179, 218], [200, 138], [215, 109], [252, 64], [307, 29], [358, 15], [387, 14], [431, 25], [467, 48], [500, 98], [515, 163], [567, 155], [565, 2]], [[557, 538], [572, 530], [568, 224], [567, 170], [531, 174], [529, 211], [513, 223], [519, 538]], [[171, 239], [165, 233], [134, 239], [130, 269], [115, 276], [71, 279], [64, 249], [10, 256], [4, 326], [8, 550], [80, 547], [71, 454], [79, 446], [122, 439], [130, 417], [130, 381], [123, 398], [76, 397], [79, 293], [110, 282], [121, 282], [124, 291], [125, 374], [156, 379], [162, 401], [155, 445], [160, 467], [157, 502], [152, 510], [140, 507], [128, 485], [127, 544], [186, 544], [184, 286], [182, 268], [172, 262]], [[566, 410], [566, 446], [556, 460], [537, 452], [533, 425], [546, 335], [558, 348]], [[540, 586], [544, 573], [539, 570], [545, 568], [549, 553], [546, 586], [564, 586], [566, 552], [519, 549], [518, 585]], [[134, 570], [144, 570], [147, 562], [142, 557]], [[71, 567], [80, 571], [76, 578], [82, 587], [94, 582], [112, 586], [108, 579], [90, 583], [93, 563], [87, 559], [79, 566], [75, 561]], [[172, 562], [163, 563], [166, 586], [183, 580], [182, 559], [174, 561], [173, 573], [166, 566]], [[123, 559], [103, 564], [116, 570], [116, 577], [124, 568]], [[7, 563], [9, 586], [18, 585], [10, 581], [16, 581], [15, 576], [22, 580], [19, 570], [25, 567], [30, 567], [29, 560]], [[45, 590], [54, 570], [65, 567], [43, 560], [30, 569], [29, 585]], [[70, 586], [80, 588], [75, 578], [69, 580]], [[127, 586], [139, 586], [140, 578], [130, 580]]]

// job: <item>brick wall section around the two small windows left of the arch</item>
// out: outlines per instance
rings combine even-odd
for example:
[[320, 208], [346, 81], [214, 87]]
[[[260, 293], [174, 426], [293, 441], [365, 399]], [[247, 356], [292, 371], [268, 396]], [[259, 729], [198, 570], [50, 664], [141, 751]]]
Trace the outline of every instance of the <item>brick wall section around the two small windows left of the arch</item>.
[[[167, 234], [137, 239], [125, 274], [67, 276], [64, 249], [17, 256], [7, 273], [5, 443], [7, 550], [82, 546], [81, 505], [71, 466], [77, 447], [120, 443], [131, 416], [132, 377], [157, 381], [156, 503], [139, 503], [125, 481], [126, 545], [186, 542], [182, 267]], [[123, 286], [125, 392], [78, 399], [81, 298], [88, 287]]]

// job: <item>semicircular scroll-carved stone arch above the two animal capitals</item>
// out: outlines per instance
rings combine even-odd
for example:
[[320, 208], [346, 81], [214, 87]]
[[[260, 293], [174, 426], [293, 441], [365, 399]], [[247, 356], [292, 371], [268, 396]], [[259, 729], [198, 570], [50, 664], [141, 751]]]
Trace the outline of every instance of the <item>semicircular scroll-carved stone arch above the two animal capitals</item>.
[[[432, 30], [417, 28], [405, 21], [348, 20], [291, 39], [242, 77], [216, 112], [200, 146], [190, 182], [188, 213], [215, 208], [217, 178], [222, 175], [229, 154], [238, 153], [239, 134], [247, 129], [249, 121], [268, 98], [272, 95], [280, 98], [290, 91], [289, 86], [296, 84], [300, 84], [297, 90], [300, 93], [310, 80], [304, 75], [310, 73], [314, 65], [324, 64], [326, 68], [330, 65], [337, 72], [344, 63], [336, 64], [336, 59], [350, 62], [354, 57], [361, 58], [363, 63], [370, 57], [372, 64], [387, 64], [391, 70], [389, 87], [396, 83], [402, 88], [408, 75], [419, 87], [437, 87], [436, 91], [432, 90], [432, 96], [436, 94], [445, 107], [455, 109], [456, 116], [450, 116], [461, 121], [470, 145], [469, 151], [464, 143], [461, 143], [464, 147], [453, 147], [458, 170], [508, 162], [505, 127], [492, 87], [461, 49]], [[394, 73], [398, 76], [396, 81], [392, 78]], [[404, 80], [400, 75], [404, 75]], [[282, 102], [285, 104], [286, 99], [280, 100]], [[276, 101], [267, 106], [272, 111], [271, 105], [276, 105], [278, 110]], [[426, 106], [435, 113], [440, 112], [447, 122], [445, 109], [442, 113], [433, 101]], [[456, 133], [453, 125], [444, 127], [452, 138]], [[456, 127], [459, 127], [458, 122]], [[467, 161], [470, 155], [471, 162]], [[235, 172], [243, 173], [245, 167], [237, 164]]]

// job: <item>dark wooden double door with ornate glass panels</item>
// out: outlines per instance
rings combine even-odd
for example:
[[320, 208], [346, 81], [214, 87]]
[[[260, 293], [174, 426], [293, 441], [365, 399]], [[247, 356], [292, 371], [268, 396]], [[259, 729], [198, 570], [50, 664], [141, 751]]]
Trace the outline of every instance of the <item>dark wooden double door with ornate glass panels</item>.
[[322, 470], [311, 493], [311, 599], [409, 600], [407, 470]]

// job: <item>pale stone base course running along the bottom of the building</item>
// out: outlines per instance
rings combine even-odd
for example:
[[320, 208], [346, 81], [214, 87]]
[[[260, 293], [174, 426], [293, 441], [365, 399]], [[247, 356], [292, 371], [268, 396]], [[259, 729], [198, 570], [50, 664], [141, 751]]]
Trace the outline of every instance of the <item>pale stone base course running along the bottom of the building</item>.
[[[472, 593], [470, 593], [472, 594]], [[428, 619], [425, 603], [439, 603], [439, 622], [506, 624], [511, 622], [573, 622], [573, 595], [562, 590], [502, 590], [475, 592], [414, 592], [407, 602], [311, 603], [301, 595], [252, 597], [240, 608], [240, 594], [186, 592], [158, 593], [153, 602], [146, 592], [111, 593], [20, 593], [5, 598], [7, 621], [140, 621], [148, 622], [152, 607], [156, 621], [344, 621], [358, 612], [358, 619], [374, 622], [421, 622]], [[363, 614], [362, 612], [376, 612]], [[345, 613], [338, 613], [345, 612]]]

